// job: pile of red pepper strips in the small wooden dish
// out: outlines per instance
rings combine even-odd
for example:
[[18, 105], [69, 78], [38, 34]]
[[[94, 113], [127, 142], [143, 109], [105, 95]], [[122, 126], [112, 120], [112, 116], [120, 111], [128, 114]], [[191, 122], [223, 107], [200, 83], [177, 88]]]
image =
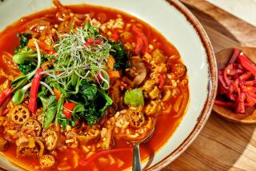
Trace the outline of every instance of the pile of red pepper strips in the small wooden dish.
[[256, 65], [235, 48], [229, 62], [218, 70], [218, 93], [214, 105], [245, 114], [256, 106]]

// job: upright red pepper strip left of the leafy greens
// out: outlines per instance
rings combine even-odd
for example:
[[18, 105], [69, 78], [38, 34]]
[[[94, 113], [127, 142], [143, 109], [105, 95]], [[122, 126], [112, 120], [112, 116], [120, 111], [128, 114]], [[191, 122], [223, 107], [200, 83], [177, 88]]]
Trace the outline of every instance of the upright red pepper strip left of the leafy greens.
[[38, 97], [38, 88], [40, 85], [40, 81], [42, 78], [42, 69], [38, 69], [34, 74], [34, 78], [32, 81], [32, 85], [30, 88], [30, 101], [28, 105], [28, 109], [30, 109], [31, 113], [35, 113], [37, 111], [37, 97]]

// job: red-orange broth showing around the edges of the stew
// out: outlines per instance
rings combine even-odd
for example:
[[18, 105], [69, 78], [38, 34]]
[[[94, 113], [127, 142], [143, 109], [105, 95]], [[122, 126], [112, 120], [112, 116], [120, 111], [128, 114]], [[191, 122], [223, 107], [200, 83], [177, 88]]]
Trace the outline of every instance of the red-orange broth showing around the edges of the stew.
[[[170, 44], [162, 36], [162, 34], [159, 34], [154, 28], [147, 25], [145, 22], [142, 22], [138, 18], [134, 18], [133, 16], [129, 14], [125, 14], [118, 10], [112, 10], [105, 7], [100, 6], [69, 6], [71, 10], [74, 11], [74, 13], [81, 13], [81, 14], [90, 14], [94, 13], [104, 13], [107, 16], [107, 19], [116, 18], [118, 14], [122, 15], [122, 19], [124, 22], [130, 22], [132, 20], [139, 22], [143, 26], [143, 32], [146, 34], [146, 38], [148, 38], [149, 44], [154, 45], [154, 48], [158, 47], [160, 50], [163, 51], [163, 54], [166, 55], [166, 57], [170, 56], [178, 56], [178, 50], [175, 49], [174, 46]], [[0, 33], [0, 56], [2, 56], [3, 52], [8, 52], [10, 54], [14, 54], [14, 48], [18, 46], [18, 38], [16, 36], [17, 33], [22, 33], [24, 31], [24, 26], [27, 22], [30, 22], [34, 18], [41, 18], [42, 16], [45, 16], [46, 14], [54, 14], [56, 13], [56, 9], [50, 9], [50, 10], [43, 10], [41, 12], [38, 12], [36, 14], [31, 14], [30, 16], [26, 16], [24, 18], [21, 18], [18, 22], [15, 22], [14, 24], [7, 26], [5, 30], [3, 30]], [[154, 43], [153, 40], [156, 40]], [[178, 60], [180, 60], [178, 58]], [[2, 58], [0, 63], [3, 63]], [[7, 66], [1, 65], [1, 68], [7, 73], [10, 74], [10, 71]], [[5, 81], [5, 78], [0, 78], [0, 83]], [[186, 86], [186, 91], [188, 91], [188, 88]], [[172, 101], [170, 102], [172, 103]], [[140, 145], [141, 149], [141, 157], [142, 160], [146, 159], [146, 157], [152, 157], [154, 153], [157, 153], [159, 149], [161, 149], [162, 145], [166, 143], [166, 141], [170, 138], [172, 133], [174, 133], [174, 130], [178, 126], [178, 123], [180, 121], [182, 116], [180, 117], [174, 117], [174, 112], [168, 113], [168, 114], [160, 114], [157, 119], [157, 123], [155, 125], [154, 134], [151, 137], [150, 141], [143, 143]], [[3, 129], [1, 128], [1, 137], [3, 136]], [[120, 148], [127, 148], [132, 147], [132, 145], [129, 145], [126, 141], [123, 141], [121, 139], [115, 139], [115, 145], [113, 149], [120, 149]], [[94, 166], [97, 165], [97, 168], [99, 170], [116, 170], [116, 165], [98, 165], [98, 163], [93, 163], [90, 165], [83, 165], [84, 162], [86, 162], [84, 154], [80, 149], [67, 149], [63, 152], [58, 152], [58, 155], [56, 157], [57, 161], [62, 161], [64, 157], [67, 157], [68, 160], [72, 160], [72, 151], [76, 151], [79, 154], [79, 165], [76, 167], [76, 170], [93, 170]], [[14, 143], [10, 143], [10, 146], [8, 149], [6, 149], [5, 152], [3, 152], [4, 155], [6, 155], [7, 158], [10, 158], [11, 161], [15, 161], [18, 165], [22, 165], [23, 167], [26, 166], [26, 169], [35, 169], [36, 165], [38, 164], [38, 159], [36, 157], [17, 157], [16, 156], [16, 145]], [[125, 153], [118, 152], [112, 154], [114, 157], [118, 157], [122, 161], [125, 161], [125, 165], [122, 166], [122, 168], [118, 169], [127, 169], [132, 165], [132, 151], [126, 151]], [[42, 169], [42, 168], [40, 168]], [[55, 170], [56, 168], [50, 169]]]

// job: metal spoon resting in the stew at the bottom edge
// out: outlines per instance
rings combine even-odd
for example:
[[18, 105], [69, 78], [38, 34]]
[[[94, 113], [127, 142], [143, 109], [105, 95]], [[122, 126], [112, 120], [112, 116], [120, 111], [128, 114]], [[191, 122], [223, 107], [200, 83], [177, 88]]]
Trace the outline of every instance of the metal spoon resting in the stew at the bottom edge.
[[154, 133], [154, 127], [146, 134], [146, 136], [142, 137], [141, 139], [137, 139], [136, 141], [130, 141], [133, 143], [134, 146], [134, 155], [133, 155], [133, 171], [141, 171], [142, 170], [142, 164], [141, 164], [141, 157], [139, 154], [139, 145], [142, 142], [145, 142], [150, 139], [150, 137]]

